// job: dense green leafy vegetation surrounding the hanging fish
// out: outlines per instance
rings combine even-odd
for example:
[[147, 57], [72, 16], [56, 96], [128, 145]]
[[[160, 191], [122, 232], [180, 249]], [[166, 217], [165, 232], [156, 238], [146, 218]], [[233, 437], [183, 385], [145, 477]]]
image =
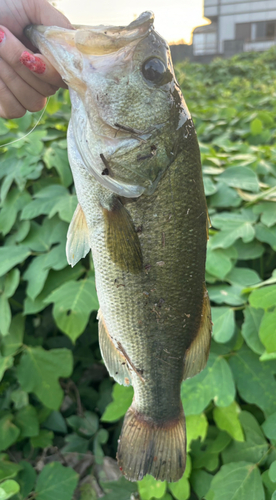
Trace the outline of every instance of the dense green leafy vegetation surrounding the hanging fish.
[[[91, 257], [65, 258], [68, 94], [0, 149], [2, 500], [276, 499], [275, 55], [177, 68], [202, 152], [214, 322], [207, 368], [182, 386], [178, 483], [130, 483], [114, 462], [132, 388], [101, 362]], [[36, 119], [0, 120], [0, 145]]]

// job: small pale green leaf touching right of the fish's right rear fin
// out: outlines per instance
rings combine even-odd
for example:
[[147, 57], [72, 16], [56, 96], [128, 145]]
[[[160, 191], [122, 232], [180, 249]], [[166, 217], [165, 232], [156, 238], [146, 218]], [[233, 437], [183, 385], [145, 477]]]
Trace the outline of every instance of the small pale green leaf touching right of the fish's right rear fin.
[[212, 307], [213, 338], [216, 342], [228, 342], [234, 335], [235, 315], [230, 307]]

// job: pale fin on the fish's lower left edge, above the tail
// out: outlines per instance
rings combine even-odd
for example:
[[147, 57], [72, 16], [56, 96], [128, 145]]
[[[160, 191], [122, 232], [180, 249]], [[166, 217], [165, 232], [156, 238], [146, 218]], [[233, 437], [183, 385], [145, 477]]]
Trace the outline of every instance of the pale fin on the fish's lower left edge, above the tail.
[[100, 350], [109, 375], [111, 375], [118, 384], [131, 385], [131, 375], [128, 369], [127, 360], [112, 342], [100, 310], [98, 312], [98, 319]]

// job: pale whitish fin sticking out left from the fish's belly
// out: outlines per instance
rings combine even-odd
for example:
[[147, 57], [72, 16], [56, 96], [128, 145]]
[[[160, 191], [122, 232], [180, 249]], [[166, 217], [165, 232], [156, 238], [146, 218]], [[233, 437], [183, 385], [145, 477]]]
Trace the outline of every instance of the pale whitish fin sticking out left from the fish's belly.
[[90, 250], [88, 227], [85, 215], [78, 204], [71, 220], [66, 243], [66, 256], [70, 266], [75, 266]]

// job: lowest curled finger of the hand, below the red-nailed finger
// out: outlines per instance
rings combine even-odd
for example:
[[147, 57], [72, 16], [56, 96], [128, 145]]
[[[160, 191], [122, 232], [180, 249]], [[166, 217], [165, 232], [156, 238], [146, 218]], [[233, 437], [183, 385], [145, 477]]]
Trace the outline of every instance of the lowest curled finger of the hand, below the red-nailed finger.
[[[14, 95], [17, 101], [28, 111], [40, 111], [46, 104], [46, 98], [30, 87], [22, 78], [5, 62], [0, 59], [1, 79]], [[52, 95], [55, 91], [52, 91]], [[0, 97], [2, 101], [2, 96]]]

